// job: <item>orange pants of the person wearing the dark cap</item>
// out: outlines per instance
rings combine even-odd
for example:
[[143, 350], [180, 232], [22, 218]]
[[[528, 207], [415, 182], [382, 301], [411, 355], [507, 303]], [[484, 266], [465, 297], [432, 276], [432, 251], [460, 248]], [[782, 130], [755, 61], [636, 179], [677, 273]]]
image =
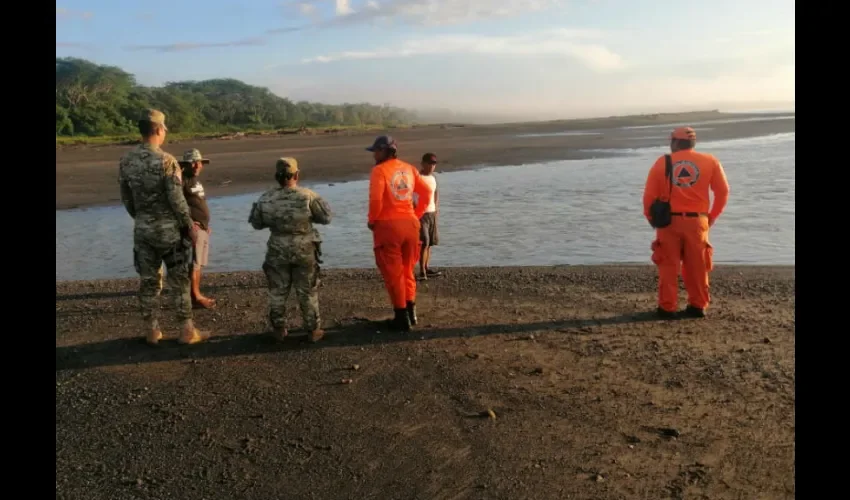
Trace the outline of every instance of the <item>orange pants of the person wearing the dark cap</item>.
[[404, 309], [416, 301], [419, 261], [419, 221], [415, 218], [376, 221], [372, 229], [375, 263], [384, 278], [393, 309]]

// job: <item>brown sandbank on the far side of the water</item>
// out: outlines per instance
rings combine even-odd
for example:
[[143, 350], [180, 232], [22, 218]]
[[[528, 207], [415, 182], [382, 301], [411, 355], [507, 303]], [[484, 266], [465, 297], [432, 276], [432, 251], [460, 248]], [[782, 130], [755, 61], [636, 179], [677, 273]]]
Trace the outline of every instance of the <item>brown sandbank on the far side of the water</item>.
[[[582, 149], [619, 149], [657, 146], [666, 142], [669, 130], [622, 130], [619, 127], [675, 122], [699, 122], [765, 115], [685, 113], [657, 118], [605, 118], [564, 122], [520, 123], [491, 126], [425, 126], [390, 130], [400, 145], [403, 160], [419, 164], [426, 152], [437, 153], [439, 171], [481, 166], [520, 165], [552, 160], [602, 157], [604, 153]], [[765, 120], [707, 124], [700, 140], [730, 139], [793, 131], [794, 120]], [[599, 135], [515, 137], [519, 134], [598, 130]], [[312, 136], [256, 136], [234, 140], [195, 140], [166, 143], [164, 149], [180, 155], [196, 147], [212, 158], [204, 171], [208, 196], [242, 194], [273, 184], [273, 165], [280, 156], [295, 156], [305, 182], [343, 182], [368, 176], [371, 156], [364, 148], [379, 132], [343, 132]], [[630, 137], [646, 137], [633, 140]], [[56, 209], [119, 203], [117, 166], [131, 146], [68, 147], [56, 151]], [[649, 166], [647, 165], [647, 168]]]

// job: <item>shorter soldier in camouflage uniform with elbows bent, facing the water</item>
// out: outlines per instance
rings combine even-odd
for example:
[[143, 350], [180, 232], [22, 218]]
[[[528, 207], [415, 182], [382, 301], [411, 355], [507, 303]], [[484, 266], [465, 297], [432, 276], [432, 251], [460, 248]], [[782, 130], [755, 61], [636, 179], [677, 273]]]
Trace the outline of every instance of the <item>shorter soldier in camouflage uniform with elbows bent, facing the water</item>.
[[251, 208], [248, 222], [254, 229], [269, 228], [263, 271], [269, 287], [269, 320], [272, 336], [286, 337], [286, 299], [295, 288], [307, 340], [324, 337], [319, 316], [319, 245], [313, 224], [330, 224], [331, 209], [318, 194], [298, 187], [300, 172], [295, 158], [280, 158], [275, 180], [280, 187], [263, 193]]

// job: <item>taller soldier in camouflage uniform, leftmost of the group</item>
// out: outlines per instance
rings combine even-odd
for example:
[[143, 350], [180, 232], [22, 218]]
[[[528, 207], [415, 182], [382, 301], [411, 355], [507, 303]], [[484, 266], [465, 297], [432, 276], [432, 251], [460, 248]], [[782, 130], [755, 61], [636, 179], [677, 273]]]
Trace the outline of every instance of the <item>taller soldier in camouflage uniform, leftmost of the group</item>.
[[177, 160], [160, 146], [168, 129], [165, 115], [149, 109], [139, 119], [142, 144], [128, 151], [118, 169], [121, 202], [133, 218], [133, 264], [139, 273], [139, 304], [147, 322], [146, 340], [156, 345], [159, 328], [161, 266], [175, 294], [177, 318], [182, 322], [178, 342], [194, 344], [207, 338], [192, 321], [189, 268], [197, 228], [183, 196], [183, 179]]

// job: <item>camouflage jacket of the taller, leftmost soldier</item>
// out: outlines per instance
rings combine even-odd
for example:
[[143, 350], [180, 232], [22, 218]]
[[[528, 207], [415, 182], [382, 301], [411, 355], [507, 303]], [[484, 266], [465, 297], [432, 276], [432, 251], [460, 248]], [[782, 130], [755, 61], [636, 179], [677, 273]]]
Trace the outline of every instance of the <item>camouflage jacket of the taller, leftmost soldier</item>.
[[134, 236], [173, 245], [192, 225], [177, 160], [158, 146], [141, 144], [121, 157], [121, 202], [135, 221]]

